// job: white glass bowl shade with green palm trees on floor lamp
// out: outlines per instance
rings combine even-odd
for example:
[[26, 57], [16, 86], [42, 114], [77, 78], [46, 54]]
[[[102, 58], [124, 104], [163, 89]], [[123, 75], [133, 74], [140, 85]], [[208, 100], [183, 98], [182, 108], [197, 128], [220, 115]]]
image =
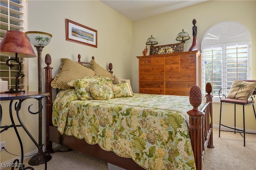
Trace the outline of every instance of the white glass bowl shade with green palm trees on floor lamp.
[[34, 46], [45, 47], [52, 39], [52, 35], [40, 31], [28, 31], [26, 32], [30, 43]]

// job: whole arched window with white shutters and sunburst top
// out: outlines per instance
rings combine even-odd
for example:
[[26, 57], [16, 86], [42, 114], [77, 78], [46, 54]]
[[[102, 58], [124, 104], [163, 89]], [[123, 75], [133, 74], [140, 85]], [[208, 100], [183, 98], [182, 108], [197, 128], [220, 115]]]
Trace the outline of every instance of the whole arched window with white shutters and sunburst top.
[[[205, 87], [208, 82], [212, 84], [214, 101], [219, 99], [217, 98], [219, 90], [230, 88], [234, 79], [250, 79], [250, 45], [249, 30], [241, 23], [234, 21], [217, 23], [204, 34], [202, 87]], [[228, 91], [223, 91], [223, 94], [227, 93]]]

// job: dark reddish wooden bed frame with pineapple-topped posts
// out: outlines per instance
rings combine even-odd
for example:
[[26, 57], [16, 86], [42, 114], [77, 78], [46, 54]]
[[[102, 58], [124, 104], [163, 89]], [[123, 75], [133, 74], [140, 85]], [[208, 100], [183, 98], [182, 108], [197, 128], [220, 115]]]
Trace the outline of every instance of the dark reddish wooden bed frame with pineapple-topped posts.
[[[78, 62], [83, 64], [89, 64], [88, 62], [80, 62], [80, 55], [78, 55]], [[94, 58], [94, 57], [93, 57]], [[114, 152], [102, 150], [98, 144], [89, 145], [84, 139], [77, 139], [74, 136], [61, 135], [57, 130], [57, 127], [52, 125], [52, 67], [51, 57], [49, 54], [45, 57], [46, 67], [45, 69], [45, 83], [46, 92], [50, 93], [49, 100], [46, 101], [46, 152], [52, 153], [52, 142], [58, 143], [60, 145], [66, 146], [70, 149], [77, 150], [86, 155], [93, 156], [110, 164], [114, 164], [124, 169], [140, 170], [143, 169], [141, 166], [136, 164], [132, 158], [122, 158], [117, 156]], [[112, 73], [112, 64], [109, 64], [110, 72]], [[198, 110], [202, 102], [202, 92], [198, 86], [193, 86], [190, 90], [190, 104], [194, 109], [188, 111], [190, 121], [189, 121], [189, 133], [192, 143], [192, 148], [194, 151], [194, 157], [196, 162], [196, 169], [202, 170], [202, 161], [204, 159], [204, 153], [206, 147], [214, 148], [212, 139], [212, 86], [210, 83], [206, 85], [206, 106], [202, 111]], [[207, 114], [205, 114], [207, 113]], [[210, 119], [209, 119], [210, 115]], [[212, 121], [211, 121], [212, 122]]]

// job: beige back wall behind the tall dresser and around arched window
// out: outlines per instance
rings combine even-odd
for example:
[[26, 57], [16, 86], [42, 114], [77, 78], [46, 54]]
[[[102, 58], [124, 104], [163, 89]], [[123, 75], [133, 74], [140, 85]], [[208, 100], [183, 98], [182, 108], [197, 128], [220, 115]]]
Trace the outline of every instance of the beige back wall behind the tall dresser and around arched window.
[[[194, 6], [166, 12], [132, 23], [132, 88], [138, 92], [138, 59], [145, 48], [146, 40], [153, 35], [158, 40], [157, 45], [179, 43], [177, 34], [184, 29], [191, 39], [184, 44], [184, 51], [192, 45], [192, 20], [196, 19], [198, 49], [204, 33], [216, 23], [222, 21], [236, 21], [244, 24], [250, 31], [252, 38], [252, 79], [256, 79], [256, 1], [207, 1]], [[149, 46], [148, 46], [149, 49]], [[148, 51], [149, 55], [149, 51]], [[234, 106], [224, 104], [222, 123], [234, 126]], [[237, 106], [237, 127], [242, 127], [242, 107]], [[219, 124], [220, 103], [213, 104], [213, 124]], [[226, 118], [226, 119], [225, 119]], [[251, 106], [246, 108], [246, 129], [256, 130], [256, 121]]]

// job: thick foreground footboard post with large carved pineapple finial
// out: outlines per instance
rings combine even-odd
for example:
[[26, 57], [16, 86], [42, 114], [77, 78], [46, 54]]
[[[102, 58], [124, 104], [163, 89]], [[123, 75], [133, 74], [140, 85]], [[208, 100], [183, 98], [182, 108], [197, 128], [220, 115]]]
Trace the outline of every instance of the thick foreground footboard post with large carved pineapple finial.
[[202, 119], [204, 112], [198, 110], [198, 106], [202, 103], [202, 92], [196, 85], [190, 89], [189, 102], [193, 106], [193, 109], [187, 112], [189, 115], [190, 139], [194, 151], [196, 169], [202, 170]]

